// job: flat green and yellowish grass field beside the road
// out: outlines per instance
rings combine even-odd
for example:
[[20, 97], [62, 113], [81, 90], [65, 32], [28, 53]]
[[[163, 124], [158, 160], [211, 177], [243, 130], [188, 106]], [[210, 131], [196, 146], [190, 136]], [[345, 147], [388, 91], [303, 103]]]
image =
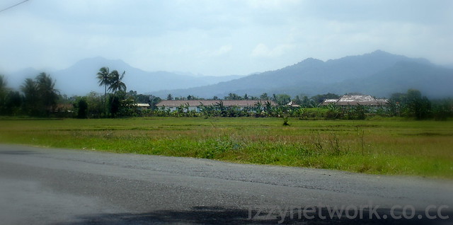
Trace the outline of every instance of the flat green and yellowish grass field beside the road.
[[0, 142], [453, 178], [453, 121], [147, 117], [0, 120]]

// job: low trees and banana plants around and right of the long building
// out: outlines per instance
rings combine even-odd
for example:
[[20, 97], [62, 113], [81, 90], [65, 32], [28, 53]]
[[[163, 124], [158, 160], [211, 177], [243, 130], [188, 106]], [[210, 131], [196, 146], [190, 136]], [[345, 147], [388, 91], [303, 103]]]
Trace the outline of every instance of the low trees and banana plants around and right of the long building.
[[[348, 95], [361, 95], [361, 93], [348, 93]], [[406, 93], [394, 93], [389, 98], [388, 105], [348, 105], [340, 106], [335, 103], [321, 105], [326, 99], [338, 99], [334, 93], [311, 96], [295, 96], [291, 98], [285, 94], [268, 96], [263, 93], [260, 97], [239, 96], [229, 93], [224, 100], [257, 100], [250, 107], [224, 106], [222, 100], [214, 105], [200, 105], [197, 110], [190, 109], [188, 104], [182, 104], [171, 110], [169, 108], [155, 108], [147, 112], [149, 116], [174, 116], [174, 117], [298, 117], [301, 120], [365, 120], [367, 117], [413, 117], [417, 120], [432, 119], [447, 120], [453, 117], [453, 99], [429, 100], [422, 96], [420, 91], [409, 89]], [[168, 95], [167, 100], [205, 100], [188, 96], [188, 98], [173, 98]], [[277, 105], [270, 104], [273, 100]], [[291, 105], [288, 105], [292, 101]]]

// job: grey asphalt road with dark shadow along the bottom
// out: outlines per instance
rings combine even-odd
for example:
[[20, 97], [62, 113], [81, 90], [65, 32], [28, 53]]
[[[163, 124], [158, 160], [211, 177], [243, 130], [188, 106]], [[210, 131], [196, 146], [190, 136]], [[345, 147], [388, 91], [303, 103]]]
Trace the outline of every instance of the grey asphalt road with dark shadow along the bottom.
[[0, 145], [0, 224], [452, 224], [452, 212], [452, 181]]

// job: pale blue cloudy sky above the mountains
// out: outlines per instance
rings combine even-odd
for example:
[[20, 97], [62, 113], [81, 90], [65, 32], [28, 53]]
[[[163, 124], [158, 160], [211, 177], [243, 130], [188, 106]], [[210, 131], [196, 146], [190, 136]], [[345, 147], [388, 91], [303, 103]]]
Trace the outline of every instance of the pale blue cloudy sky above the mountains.
[[105, 57], [246, 75], [374, 50], [453, 65], [452, 12], [451, 0], [29, 0], [0, 12], [0, 73]]

